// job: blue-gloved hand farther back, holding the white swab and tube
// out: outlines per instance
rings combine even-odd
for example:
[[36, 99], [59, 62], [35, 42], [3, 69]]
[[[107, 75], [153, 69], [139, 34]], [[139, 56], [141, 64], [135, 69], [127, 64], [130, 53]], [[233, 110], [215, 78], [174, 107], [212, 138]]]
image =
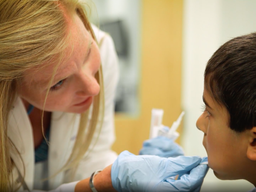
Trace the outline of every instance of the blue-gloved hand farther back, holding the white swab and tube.
[[140, 155], [157, 155], [159, 157], [177, 157], [184, 155], [182, 147], [173, 140], [158, 136], [153, 139], [146, 140], [140, 150]]

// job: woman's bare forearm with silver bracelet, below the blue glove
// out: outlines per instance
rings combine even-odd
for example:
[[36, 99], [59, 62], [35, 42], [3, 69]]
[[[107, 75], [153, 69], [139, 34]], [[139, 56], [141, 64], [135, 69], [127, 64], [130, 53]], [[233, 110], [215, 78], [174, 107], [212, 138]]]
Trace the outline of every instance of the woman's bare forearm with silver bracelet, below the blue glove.
[[[89, 180], [90, 178], [87, 178], [78, 182], [75, 187], [75, 192], [91, 192], [92, 190], [89, 185]], [[116, 192], [116, 190], [112, 186], [111, 181], [111, 165], [94, 176], [93, 184], [98, 192]]]

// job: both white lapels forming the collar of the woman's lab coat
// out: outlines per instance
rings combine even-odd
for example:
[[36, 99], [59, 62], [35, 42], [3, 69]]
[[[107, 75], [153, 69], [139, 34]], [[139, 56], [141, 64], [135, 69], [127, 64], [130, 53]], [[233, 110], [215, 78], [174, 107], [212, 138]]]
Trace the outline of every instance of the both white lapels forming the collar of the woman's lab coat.
[[[58, 187], [63, 182], [64, 172], [59, 173], [53, 178], [51, 176], [56, 174], [67, 162], [76, 141], [79, 122], [79, 114], [52, 112], [48, 150], [50, 189]], [[14, 108], [10, 111], [7, 134], [20, 153], [25, 167], [14, 150], [10, 150], [10, 156], [21, 175], [24, 175], [25, 170], [24, 181], [29, 190], [33, 190], [35, 172], [33, 129], [26, 108], [19, 97], [14, 103]]]

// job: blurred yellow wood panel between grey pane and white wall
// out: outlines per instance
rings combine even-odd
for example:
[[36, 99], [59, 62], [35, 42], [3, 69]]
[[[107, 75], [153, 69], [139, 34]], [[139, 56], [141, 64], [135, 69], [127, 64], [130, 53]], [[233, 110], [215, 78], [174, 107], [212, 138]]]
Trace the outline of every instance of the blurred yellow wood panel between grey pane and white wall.
[[138, 153], [149, 136], [152, 108], [164, 109], [167, 126], [181, 112], [182, 10], [182, 0], [142, 0], [140, 110], [136, 116], [116, 114], [113, 150], [118, 153]]

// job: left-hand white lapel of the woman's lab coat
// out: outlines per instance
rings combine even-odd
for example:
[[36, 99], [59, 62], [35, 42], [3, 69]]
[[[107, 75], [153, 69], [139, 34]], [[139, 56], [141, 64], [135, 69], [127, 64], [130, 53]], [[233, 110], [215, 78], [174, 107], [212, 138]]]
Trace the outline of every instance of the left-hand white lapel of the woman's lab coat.
[[27, 111], [20, 98], [17, 98], [10, 111], [7, 135], [20, 153], [25, 167], [15, 150], [10, 150], [10, 156], [22, 176], [25, 168], [24, 180], [29, 190], [32, 190], [35, 168], [34, 137]]

